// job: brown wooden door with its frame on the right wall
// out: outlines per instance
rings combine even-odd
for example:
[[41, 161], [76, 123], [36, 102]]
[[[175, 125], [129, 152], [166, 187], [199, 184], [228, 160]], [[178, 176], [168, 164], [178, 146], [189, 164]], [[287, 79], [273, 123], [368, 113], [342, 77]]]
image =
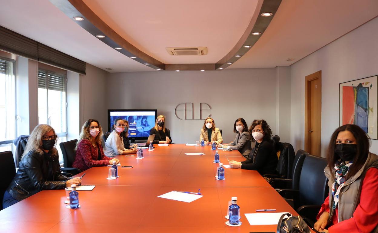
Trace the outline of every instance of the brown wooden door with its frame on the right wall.
[[322, 71], [306, 76], [305, 151], [321, 154]]

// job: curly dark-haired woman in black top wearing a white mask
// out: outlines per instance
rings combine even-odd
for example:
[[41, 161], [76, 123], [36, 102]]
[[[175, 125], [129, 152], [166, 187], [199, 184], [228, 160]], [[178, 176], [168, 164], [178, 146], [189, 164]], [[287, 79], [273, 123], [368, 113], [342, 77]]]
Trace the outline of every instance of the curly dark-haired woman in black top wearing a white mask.
[[251, 150], [249, 159], [243, 162], [231, 160], [231, 168], [256, 170], [261, 175], [276, 174], [278, 163], [277, 154], [274, 153], [272, 130], [265, 120], [254, 120], [249, 127], [252, 142], [256, 142], [255, 150]]

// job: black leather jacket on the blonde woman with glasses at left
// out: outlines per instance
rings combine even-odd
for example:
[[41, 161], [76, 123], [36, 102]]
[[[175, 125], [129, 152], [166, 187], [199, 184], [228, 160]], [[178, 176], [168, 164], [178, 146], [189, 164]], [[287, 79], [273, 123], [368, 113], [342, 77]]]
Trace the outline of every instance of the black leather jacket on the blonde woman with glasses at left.
[[43, 154], [29, 151], [22, 157], [19, 170], [7, 191], [14, 199], [21, 201], [41, 190], [63, 189], [70, 177], [61, 172], [58, 153], [52, 156], [51, 151]]

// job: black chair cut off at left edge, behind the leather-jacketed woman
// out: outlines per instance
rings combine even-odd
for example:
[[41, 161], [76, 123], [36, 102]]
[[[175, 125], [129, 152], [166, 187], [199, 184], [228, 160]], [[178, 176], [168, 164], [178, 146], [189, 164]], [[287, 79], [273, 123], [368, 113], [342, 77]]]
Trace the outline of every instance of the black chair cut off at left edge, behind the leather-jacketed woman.
[[3, 209], [3, 197], [16, 174], [12, 151], [0, 153], [0, 210]]

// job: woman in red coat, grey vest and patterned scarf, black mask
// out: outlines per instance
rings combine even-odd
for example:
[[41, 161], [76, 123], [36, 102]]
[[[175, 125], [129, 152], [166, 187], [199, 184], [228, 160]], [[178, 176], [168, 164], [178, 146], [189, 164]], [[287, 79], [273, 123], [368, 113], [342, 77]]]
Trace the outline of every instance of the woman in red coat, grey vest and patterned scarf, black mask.
[[369, 147], [367, 134], [357, 125], [343, 125], [332, 134], [324, 169], [329, 194], [316, 230], [378, 232], [378, 156]]

